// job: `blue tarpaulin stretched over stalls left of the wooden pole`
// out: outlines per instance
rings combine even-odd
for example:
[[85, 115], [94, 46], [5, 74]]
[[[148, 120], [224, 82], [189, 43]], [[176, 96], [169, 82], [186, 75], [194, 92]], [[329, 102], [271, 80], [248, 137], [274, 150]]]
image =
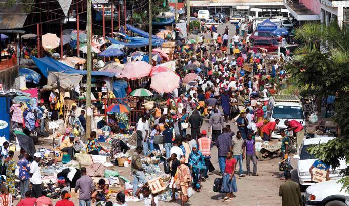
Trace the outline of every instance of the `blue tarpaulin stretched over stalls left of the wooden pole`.
[[[81, 75], [86, 75], [87, 71], [86, 70], [77, 70], [74, 69], [73, 67], [70, 67], [68, 65], [65, 65], [61, 62], [58, 62], [50, 57], [43, 57], [43, 58], [36, 58], [31, 56], [31, 58], [34, 60], [36, 66], [40, 69], [41, 73], [47, 78], [48, 76], [48, 71], [53, 71], [53, 72], [63, 72], [67, 74], [81, 74]], [[113, 77], [115, 76], [115, 73], [110, 73], [110, 72], [102, 72], [102, 71], [92, 71], [91, 72], [92, 76], [107, 76], [107, 77]]]

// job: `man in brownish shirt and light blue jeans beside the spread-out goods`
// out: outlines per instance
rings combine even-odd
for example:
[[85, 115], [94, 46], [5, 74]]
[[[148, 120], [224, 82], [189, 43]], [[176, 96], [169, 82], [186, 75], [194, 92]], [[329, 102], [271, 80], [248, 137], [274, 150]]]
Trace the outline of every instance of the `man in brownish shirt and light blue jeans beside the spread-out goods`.
[[144, 168], [142, 167], [142, 161], [140, 158], [140, 154], [142, 153], [143, 148], [141, 146], [138, 146], [136, 148], [135, 153], [132, 155], [132, 161], [131, 161], [131, 172], [133, 174], [133, 196], [136, 196], [136, 191], [138, 188], [138, 183], [145, 183], [145, 175], [144, 175]]

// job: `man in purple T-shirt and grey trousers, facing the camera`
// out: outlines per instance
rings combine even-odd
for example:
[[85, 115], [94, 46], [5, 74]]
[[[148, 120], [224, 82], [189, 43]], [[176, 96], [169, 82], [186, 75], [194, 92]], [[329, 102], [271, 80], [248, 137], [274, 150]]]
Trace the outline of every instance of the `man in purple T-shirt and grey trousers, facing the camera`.
[[257, 174], [257, 158], [256, 158], [256, 148], [255, 148], [255, 142], [254, 139], [252, 139], [252, 134], [249, 133], [247, 135], [247, 139], [244, 140], [244, 145], [246, 151], [246, 169], [247, 169], [247, 175], [251, 175], [250, 170], [250, 161], [252, 160], [253, 163], [253, 173], [252, 176], [259, 176]]

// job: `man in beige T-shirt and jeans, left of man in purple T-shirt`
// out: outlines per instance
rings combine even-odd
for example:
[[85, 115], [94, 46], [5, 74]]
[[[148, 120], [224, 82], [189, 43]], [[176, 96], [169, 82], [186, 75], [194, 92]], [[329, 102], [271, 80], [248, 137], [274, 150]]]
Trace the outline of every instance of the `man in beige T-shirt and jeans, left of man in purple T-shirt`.
[[244, 139], [241, 137], [241, 132], [232, 138], [232, 157], [239, 162], [239, 176], [245, 177], [242, 161], [245, 158], [245, 148], [243, 147]]

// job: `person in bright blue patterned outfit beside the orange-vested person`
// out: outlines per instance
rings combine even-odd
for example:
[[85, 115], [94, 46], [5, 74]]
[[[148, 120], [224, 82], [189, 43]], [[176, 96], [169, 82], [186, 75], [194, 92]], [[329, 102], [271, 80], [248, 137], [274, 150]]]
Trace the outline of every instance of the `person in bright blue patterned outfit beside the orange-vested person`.
[[200, 192], [201, 175], [203, 170], [206, 169], [206, 166], [204, 156], [202, 155], [201, 151], [198, 150], [196, 145], [192, 147], [192, 151], [189, 156], [189, 166], [194, 182], [194, 189], [195, 191]]

